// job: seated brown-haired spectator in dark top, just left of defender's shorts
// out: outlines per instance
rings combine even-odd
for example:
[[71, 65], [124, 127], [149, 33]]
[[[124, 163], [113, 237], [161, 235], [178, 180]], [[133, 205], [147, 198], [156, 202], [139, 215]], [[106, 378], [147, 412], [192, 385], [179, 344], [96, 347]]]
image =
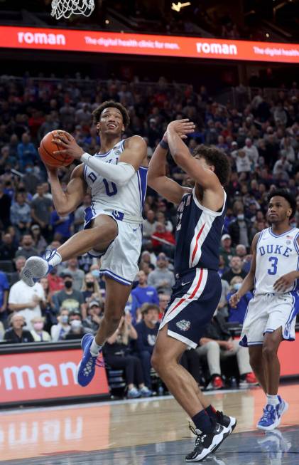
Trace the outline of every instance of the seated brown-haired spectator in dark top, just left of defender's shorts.
[[153, 303], [143, 303], [140, 311], [142, 321], [135, 326], [138, 335], [136, 352], [141, 359], [144, 382], [151, 390], [151, 355], [158, 334], [160, 309]]

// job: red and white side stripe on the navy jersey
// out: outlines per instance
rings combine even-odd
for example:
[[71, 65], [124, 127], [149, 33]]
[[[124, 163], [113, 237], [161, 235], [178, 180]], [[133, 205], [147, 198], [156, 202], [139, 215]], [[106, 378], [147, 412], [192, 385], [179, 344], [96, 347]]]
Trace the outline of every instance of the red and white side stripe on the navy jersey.
[[194, 268], [202, 256], [202, 246], [207, 234], [209, 234], [215, 216], [211, 216], [206, 211], [202, 211], [200, 219], [195, 226], [194, 236], [192, 237], [189, 256], [189, 267]]

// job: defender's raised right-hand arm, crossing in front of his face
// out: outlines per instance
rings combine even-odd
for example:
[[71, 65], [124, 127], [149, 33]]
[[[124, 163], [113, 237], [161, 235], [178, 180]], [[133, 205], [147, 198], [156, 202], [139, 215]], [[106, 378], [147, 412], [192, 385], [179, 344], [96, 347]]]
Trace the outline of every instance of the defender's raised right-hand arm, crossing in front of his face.
[[[173, 160], [203, 189], [210, 189], [223, 197], [223, 189], [218, 177], [211, 169], [206, 169], [192, 157], [187, 145], [180, 138], [181, 126], [189, 120], [177, 120], [169, 123], [167, 127], [168, 144]], [[190, 123], [195, 127], [193, 123]], [[193, 129], [194, 130], [194, 129]], [[192, 131], [193, 132], [193, 131]]]

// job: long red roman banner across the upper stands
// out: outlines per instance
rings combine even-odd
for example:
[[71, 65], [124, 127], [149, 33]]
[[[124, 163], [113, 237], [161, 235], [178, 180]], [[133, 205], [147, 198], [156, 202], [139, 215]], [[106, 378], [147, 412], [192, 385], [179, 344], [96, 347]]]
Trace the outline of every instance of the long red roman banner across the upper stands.
[[299, 63], [299, 44], [0, 26], [0, 47]]

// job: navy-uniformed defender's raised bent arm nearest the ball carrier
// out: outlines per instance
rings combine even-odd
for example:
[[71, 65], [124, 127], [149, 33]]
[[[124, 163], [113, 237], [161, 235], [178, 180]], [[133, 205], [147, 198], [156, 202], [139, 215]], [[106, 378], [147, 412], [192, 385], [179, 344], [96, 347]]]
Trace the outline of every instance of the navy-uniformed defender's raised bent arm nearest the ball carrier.
[[[166, 176], [166, 157], [168, 153], [167, 135], [163, 136], [164, 145], [157, 145], [148, 165], [148, 185], [169, 202], [179, 204], [183, 195], [192, 189], [182, 187], [178, 182]], [[164, 148], [165, 147], [165, 148]]]

